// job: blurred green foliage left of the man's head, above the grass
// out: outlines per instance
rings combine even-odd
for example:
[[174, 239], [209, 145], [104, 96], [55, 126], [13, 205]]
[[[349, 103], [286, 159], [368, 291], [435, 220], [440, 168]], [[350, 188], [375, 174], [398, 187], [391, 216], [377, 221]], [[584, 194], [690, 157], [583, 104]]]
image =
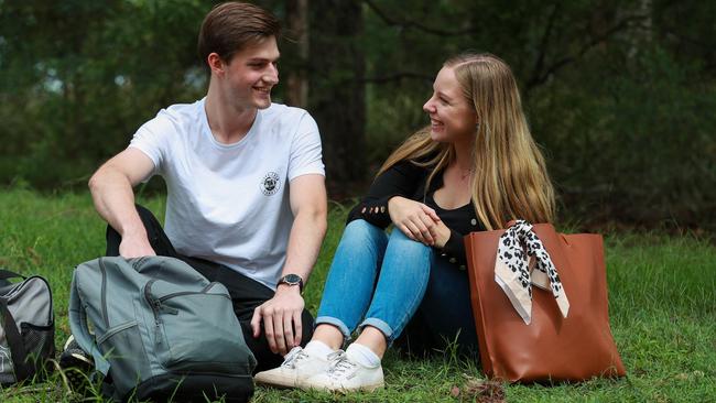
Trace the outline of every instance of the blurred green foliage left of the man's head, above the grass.
[[85, 182], [159, 108], [200, 97], [200, 1], [9, 1], [0, 8], [0, 173]]

